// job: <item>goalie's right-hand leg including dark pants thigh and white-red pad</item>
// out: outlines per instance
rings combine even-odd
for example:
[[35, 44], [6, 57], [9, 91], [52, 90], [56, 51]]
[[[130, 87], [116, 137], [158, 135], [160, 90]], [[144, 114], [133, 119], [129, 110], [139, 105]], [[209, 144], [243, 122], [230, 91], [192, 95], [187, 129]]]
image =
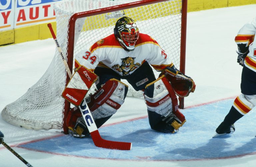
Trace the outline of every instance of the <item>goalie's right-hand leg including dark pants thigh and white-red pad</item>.
[[[183, 125], [185, 117], [178, 111], [178, 100], [169, 80], [165, 77], [156, 80], [153, 70], [147, 62], [143, 63], [136, 72], [123, 77], [123, 79], [126, 79], [136, 91], [145, 89], [144, 97], [152, 129], [164, 133], [174, 133]], [[162, 79], [167, 86], [163, 84]], [[150, 86], [146, 87], [146, 85]], [[160, 92], [159, 90], [164, 91]]]

